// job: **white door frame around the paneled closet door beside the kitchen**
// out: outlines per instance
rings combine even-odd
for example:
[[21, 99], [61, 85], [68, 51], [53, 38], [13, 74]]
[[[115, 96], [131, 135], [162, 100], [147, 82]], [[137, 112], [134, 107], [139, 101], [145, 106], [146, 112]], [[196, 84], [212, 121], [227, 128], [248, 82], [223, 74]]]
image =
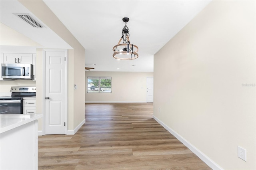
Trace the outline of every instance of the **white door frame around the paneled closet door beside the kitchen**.
[[56, 51], [56, 52], [65, 52], [66, 62], [65, 62], [65, 134], [68, 132], [68, 49], [43, 49], [43, 67], [42, 67], [42, 112], [43, 112], [43, 120], [42, 120], [42, 135], [45, 135], [45, 57], [46, 51]]

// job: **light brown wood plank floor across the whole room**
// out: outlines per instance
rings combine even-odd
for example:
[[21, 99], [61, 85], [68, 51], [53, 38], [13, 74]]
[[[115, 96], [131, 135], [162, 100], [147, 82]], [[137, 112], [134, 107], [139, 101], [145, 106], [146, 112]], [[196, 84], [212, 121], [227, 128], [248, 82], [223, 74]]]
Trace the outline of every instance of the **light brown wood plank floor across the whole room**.
[[152, 103], [86, 103], [75, 135], [39, 136], [38, 169], [211, 169], [152, 115]]

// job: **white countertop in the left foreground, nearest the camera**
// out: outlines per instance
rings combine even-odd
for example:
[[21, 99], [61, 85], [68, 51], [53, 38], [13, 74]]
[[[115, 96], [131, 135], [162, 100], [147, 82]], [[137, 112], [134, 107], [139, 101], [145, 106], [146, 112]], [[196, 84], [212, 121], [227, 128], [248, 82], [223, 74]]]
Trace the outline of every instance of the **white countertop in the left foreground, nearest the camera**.
[[43, 114], [0, 115], [0, 134], [43, 117]]

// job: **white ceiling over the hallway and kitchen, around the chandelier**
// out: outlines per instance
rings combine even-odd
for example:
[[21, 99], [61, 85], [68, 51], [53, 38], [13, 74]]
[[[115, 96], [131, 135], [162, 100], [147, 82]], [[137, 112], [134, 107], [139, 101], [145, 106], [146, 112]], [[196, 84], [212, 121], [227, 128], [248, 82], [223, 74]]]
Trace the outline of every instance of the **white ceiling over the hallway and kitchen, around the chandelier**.
[[[63, 40], [54, 33], [50, 34], [54, 37], [48, 44], [48, 41], [40, 40], [38, 35], [28, 35], [24, 33], [26, 30], [19, 30], [15, 24], [8, 24], [3, 18], [10, 16], [10, 10], [17, 12], [18, 9], [13, 8], [10, 2], [2, 3], [2, 1], [3, 24], [18, 32], [22, 31], [22, 34], [43, 46], [49, 47], [54, 42], [53, 39], [56, 39], [61, 42], [59, 46], [62, 46], [58, 48], [68, 48], [68, 44], [62, 42]], [[44, 0], [44, 2], [84, 46], [86, 67], [94, 67], [94, 71], [153, 72], [154, 54], [188, 24], [210, 0]], [[3, 9], [5, 12], [2, 12]], [[12, 16], [14, 17], [16, 16]], [[118, 61], [112, 57], [112, 47], [118, 43], [122, 35], [124, 17], [130, 18], [127, 23], [130, 42], [139, 47], [138, 59], [130, 61]], [[41, 37], [43, 38], [45, 39]]]

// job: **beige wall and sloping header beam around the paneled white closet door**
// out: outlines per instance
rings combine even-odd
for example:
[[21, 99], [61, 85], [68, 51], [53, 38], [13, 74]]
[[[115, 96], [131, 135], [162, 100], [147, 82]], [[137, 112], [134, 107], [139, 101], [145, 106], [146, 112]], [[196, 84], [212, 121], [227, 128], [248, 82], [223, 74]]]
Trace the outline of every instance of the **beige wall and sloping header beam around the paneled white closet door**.
[[[85, 49], [42, 0], [19, 0], [19, 2], [73, 48], [68, 50], [68, 130], [74, 130], [84, 121]], [[41, 50], [38, 49], [38, 52]], [[42, 54], [37, 53], [37, 59], [40, 55]], [[42, 64], [43, 59], [42, 57], [40, 61], [37, 60], [36, 64]], [[42, 81], [38, 83], [38, 79], [42, 79], [40, 77], [42, 76], [42, 70], [37, 69], [36, 74], [38, 91], [38, 87], [42, 87]], [[74, 91], [74, 84], [78, 87], [76, 91]], [[42, 98], [42, 95], [44, 94], [37, 93], [36, 100], [38, 101], [38, 98]], [[38, 106], [40, 103], [36, 103], [36, 105], [42, 108], [42, 106]]]

